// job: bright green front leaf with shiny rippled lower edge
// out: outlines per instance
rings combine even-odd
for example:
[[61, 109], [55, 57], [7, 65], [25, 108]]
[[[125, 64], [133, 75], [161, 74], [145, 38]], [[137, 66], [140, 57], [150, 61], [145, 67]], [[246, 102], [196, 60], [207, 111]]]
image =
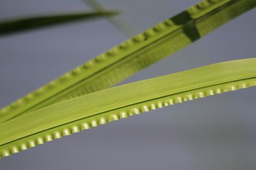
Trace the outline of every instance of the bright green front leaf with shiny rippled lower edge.
[[144, 111], [256, 85], [256, 58], [137, 81], [53, 104], [0, 124], [0, 157]]

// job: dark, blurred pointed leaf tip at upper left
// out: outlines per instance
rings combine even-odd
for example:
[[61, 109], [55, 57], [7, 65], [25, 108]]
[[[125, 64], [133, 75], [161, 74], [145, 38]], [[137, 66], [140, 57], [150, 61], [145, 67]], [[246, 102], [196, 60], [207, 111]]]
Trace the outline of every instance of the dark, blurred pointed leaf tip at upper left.
[[118, 14], [116, 11], [76, 12], [62, 13], [58, 15], [43, 15], [37, 17], [13, 18], [0, 22], [0, 36], [15, 32], [37, 29], [50, 25], [72, 22], [76, 20], [88, 20], [95, 17], [104, 17]]

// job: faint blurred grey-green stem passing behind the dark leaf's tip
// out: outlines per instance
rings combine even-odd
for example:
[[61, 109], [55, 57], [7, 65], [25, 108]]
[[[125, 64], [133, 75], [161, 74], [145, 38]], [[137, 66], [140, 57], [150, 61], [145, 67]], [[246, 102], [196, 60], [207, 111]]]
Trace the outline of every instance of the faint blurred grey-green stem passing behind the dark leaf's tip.
[[[91, 6], [96, 11], [105, 11], [106, 8], [102, 6], [97, 0], [83, 0], [86, 4]], [[136, 31], [135, 27], [127, 22], [123, 17], [116, 16], [116, 17], [108, 17], [108, 21], [115, 25], [116, 28], [118, 28], [120, 31], [122, 31], [125, 35], [131, 37], [138, 33]]]

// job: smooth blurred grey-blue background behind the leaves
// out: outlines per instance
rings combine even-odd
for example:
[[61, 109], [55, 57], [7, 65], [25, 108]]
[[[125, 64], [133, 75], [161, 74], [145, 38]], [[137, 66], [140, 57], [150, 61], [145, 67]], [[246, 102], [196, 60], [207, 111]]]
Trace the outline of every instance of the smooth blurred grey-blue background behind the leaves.
[[[105, 0], [138, 32], [198, 1]], [[92, 10], [84, 1], [1, 0], [0, 20]], [[256, 10], [124, 83], [255, 57]], [[0, 108], [99, 55], [125, 36], [106, 18], [0, 38]], [[31, 148], [0, 169], [256, 169], [256, 88], [176, 104]]]

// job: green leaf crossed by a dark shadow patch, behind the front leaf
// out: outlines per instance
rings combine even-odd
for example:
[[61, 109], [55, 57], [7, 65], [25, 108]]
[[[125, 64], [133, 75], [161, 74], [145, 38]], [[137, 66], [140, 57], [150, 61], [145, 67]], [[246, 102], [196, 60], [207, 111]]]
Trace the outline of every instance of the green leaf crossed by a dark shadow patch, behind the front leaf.
[[0, 110], [0, 123], [60, 101], [108, 89], [256, 6], [254, 0], [202, 1]]

